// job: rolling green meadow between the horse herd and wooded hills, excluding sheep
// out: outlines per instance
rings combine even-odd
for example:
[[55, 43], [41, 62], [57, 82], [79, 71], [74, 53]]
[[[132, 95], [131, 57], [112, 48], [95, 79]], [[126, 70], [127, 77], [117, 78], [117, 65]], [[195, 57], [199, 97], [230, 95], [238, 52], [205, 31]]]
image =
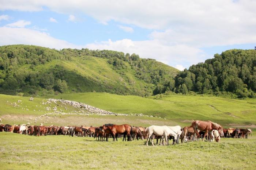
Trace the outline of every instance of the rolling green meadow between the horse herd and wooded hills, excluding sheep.
[[[153, 115], [146, 116], [99, 116], [89, 115], [81, 116], [50, 116], [50, 119], [39, 119], [37, 123], [46, 125], [63, 125], [72, 123], [74, 125], [98, 125], [100, 123], [138, 123], [135, 125], [151, 125], [151, 120], [155, 119], [157, 124], [167, 125], [189, 125], [191, 120], [211, 120], [223, 125], [224, 127], [248, 127], [255, 128], [256, 125], [256, 99], [230, 99], [223, 97], [209, 96], [183, 96], [166, 95], [162, 98], [152, 96], [144, 98], [139, 96], [121, 96], [109, 93], [72, 93], [46, 96], [44, 98], [34, 98], [29, 101], [29, 97], [10, 96], [0, 94], [0, 116], [3, 123], [34, 123], [34, 117], [53, 111], [46, 111], [46, 107], [57, 107], [57, 110], [63, 112], [78, 111], [70, 105], [58, 105], [52, 103], [42, 105], [45, 98], [57, 98], [73, 100], [92, 105], [94, 107], [111, 111], [114, 113]], [[17, 103], [22, 100], [21, 103]], [[14, 107], [14, 103], [20, 107]], [[64, 109], [67, 108], [67, 110]], [[26, 110], [28, 109], [28, 111]], [[16, 117], [15, 117], [16, 116]], [[161, 117], [161, 118], [159, 118]], [[15, 119], [16, 118], [16, 119]], [[70, 118], [70, 119], [69, 119]], [[71, 119], [72, 118], [72, 119]], [[72, 121], [71, 121], [72, 120]], [[108, 121], [106, 121], [108, 120]], [[122, 121], [120, 121], [122, 120]], [[143, 122], [142, 122], [143, 121]]]

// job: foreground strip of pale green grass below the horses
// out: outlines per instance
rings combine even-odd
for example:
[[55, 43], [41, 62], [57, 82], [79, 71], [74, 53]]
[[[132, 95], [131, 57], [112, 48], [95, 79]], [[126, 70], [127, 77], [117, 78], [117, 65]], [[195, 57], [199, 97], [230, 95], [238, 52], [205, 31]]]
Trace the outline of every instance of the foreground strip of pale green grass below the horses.
[[256, 137], [145, 146], [145, 140], [0, 132], [0, 169], [255, 169]]

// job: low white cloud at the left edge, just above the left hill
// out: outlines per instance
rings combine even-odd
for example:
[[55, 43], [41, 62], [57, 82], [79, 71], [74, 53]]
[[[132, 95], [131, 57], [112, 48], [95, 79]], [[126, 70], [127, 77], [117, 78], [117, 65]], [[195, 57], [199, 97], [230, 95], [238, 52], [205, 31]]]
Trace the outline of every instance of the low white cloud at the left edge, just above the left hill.
[[0, 32], [0, 46], [25, 44], [55, 48], [58, 50], [63, 48], [82, 48], [82, 46], [74, 45], [65, 40], [53, 38], [46, 32], [28, 28], [0, 27]]

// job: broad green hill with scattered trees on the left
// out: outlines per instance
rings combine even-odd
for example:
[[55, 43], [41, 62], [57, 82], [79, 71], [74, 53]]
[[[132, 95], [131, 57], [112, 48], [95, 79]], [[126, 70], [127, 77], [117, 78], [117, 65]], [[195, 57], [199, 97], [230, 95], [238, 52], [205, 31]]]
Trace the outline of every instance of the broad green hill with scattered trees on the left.
[[48, 49], [39, 46], [0, 47], [0, 93], [37, 96], [54, 93], [109, 92], [151, 95], [178, 70], [110, 50]]

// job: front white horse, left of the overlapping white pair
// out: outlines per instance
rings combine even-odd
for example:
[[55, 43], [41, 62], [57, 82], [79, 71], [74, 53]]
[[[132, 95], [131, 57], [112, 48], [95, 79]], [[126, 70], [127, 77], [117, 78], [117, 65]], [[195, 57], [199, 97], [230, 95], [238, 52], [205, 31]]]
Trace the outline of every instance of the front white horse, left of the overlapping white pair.
[[[165, 144], [167, 145], [168, 136], [174, 135], [174, 132], [167, 126], [155, 126], [152, 125], [147, 128], [147, 146], [148, 146], [148, 140], [151, 136], [157, 135], [157, 136], [163, 136], [165, 138]], [[153, 140], [151, 140], [152, 145], [154, 146]]]

